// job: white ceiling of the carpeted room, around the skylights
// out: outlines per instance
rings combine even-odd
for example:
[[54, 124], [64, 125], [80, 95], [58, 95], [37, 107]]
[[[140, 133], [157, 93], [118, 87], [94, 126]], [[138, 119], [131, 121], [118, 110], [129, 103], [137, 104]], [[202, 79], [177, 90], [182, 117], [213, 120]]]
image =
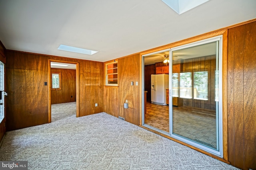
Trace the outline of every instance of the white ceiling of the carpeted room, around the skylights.
[[0, 0], [0, 40], [10, 50], [104, 62], [254, 19], [255, 9], [256, 0], [209, 0], [181, 15], [162, 0]]

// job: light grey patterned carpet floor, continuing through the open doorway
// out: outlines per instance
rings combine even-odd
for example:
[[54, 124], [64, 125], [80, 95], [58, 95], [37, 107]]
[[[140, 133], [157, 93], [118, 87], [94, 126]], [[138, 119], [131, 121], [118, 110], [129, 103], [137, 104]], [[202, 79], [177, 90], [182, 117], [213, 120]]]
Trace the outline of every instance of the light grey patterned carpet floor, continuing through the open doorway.
[[52, 123], [7, 132], [0, 160], [32, 170], [237, 169], [107, 113], [77, 118], [75, 108], [53, 105]]

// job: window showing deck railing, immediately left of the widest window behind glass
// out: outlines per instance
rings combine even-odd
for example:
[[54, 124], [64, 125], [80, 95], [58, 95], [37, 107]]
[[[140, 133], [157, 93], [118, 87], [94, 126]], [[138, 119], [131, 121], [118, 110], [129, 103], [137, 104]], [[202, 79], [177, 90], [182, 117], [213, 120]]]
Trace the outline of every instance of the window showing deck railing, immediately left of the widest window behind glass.
[[180, 97], [192, 98], [192, 72], [180, 73]]

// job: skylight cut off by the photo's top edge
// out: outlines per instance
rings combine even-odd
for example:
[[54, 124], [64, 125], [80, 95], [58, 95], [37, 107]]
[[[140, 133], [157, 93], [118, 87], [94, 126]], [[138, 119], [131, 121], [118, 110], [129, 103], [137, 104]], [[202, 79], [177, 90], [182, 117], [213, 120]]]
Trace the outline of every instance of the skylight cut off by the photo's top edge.
[[195, 8], [208, 0], [162, 0], [166, 5], [172, 8], [178, 14], [182, 14]]

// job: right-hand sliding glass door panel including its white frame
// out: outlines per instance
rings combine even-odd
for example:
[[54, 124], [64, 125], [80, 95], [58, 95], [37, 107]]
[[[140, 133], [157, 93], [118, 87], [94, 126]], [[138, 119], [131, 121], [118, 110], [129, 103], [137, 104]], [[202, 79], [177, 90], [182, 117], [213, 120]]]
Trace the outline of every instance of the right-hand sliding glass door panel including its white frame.
[[[222, 37], [171, 49], [170, 135], [222, 156]], [[172, 77], [171, 77], [172, 76]]]

